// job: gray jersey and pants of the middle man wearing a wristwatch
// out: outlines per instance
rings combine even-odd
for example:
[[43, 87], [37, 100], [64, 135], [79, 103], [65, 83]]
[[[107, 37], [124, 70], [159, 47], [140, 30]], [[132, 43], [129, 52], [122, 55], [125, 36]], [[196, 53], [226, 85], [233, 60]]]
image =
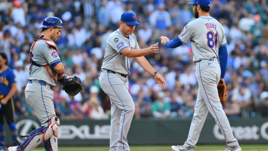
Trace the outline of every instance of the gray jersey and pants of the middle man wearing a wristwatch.
[[110, 151], [130, 150], [127, 133], [135, 106], [128, 92], [127, 75], [130, 73], [130, 58], [121, 54], [121, 51], [128, 47], [139, 49], [134, 34], [127, 38], [118, 29], [109, 35], [102, 63], [102, 73], [99, 77], [103, 91], [111, 100]]

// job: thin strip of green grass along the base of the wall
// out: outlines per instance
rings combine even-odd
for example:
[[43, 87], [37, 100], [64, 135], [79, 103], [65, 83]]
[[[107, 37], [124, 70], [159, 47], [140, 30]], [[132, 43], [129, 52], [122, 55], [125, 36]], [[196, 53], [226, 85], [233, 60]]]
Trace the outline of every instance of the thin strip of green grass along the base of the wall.
[[[222, 149], [225, 145], [197, 145], [195, 149]], [[242, 150], [261, 150], [268, 151], [268, 144], [241, 144]], [[131, 146], [132, 150], [171, 150], [171, 145], [165, 146]], [[33, 151], [44, 150], [42, 147], [35, 148]], [[97, 150], [109, 150], [108, 146], [68, 146], [58, 148], [58, 151], [97, 151]]]

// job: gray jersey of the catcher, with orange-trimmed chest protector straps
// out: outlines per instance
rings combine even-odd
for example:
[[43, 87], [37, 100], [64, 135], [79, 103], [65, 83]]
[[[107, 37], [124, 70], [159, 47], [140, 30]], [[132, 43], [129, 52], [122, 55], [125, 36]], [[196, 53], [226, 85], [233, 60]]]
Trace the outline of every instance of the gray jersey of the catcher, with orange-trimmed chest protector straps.
[[56, 86], [57, 72], [54, 70], [54, 67], [60, 63], [61, 60], [57, 54], [56, 44], [49, 38], [43, 38], [47, 40], [38, 40], [32, 46], [30, 50], [30, 58], [40, 65], [49, 64], [49, 66], [37, 67], [31, 64], [28, 80], [44, 81], [47, 84]]

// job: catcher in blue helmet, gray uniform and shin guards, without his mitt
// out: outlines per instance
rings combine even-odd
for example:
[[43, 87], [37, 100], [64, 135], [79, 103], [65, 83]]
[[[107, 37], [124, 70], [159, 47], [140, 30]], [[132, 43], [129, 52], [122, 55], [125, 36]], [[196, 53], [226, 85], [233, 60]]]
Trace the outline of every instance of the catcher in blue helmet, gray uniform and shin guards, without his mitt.
[[57, 17], [47, 17], [38, 28], [42, 28], [43, 35], [34, 39], [30, 49], [31, 64], [25, 98], [42, 126], [33, 129], [29, 135], [25, 136], [27, 138], [21, 144], [17, 141], [18, 146], [7, 148], [8, 151], [30, 151], [42, 142], [46, 151], [58, 150], [57, 137], [60, 121], [54, 109], [52, 88], [56, 86], [57, 72], [62, 72], [59, 74], [61, 76], [64, 73], [64, 67], [53, 40], [61, 36], [62, 21]]

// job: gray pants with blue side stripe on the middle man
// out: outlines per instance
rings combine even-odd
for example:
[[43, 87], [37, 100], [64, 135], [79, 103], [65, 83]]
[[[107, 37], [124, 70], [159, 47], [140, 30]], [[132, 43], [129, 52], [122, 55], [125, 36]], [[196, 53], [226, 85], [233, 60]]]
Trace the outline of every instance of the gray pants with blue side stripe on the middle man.
[[128, 79], [118, 73], [102, 70], [99, 77], [102, 90], [111, 101], [110, 151], [127, 151], [127, 133], [134, 115], [135, 105], [128, 92]]

